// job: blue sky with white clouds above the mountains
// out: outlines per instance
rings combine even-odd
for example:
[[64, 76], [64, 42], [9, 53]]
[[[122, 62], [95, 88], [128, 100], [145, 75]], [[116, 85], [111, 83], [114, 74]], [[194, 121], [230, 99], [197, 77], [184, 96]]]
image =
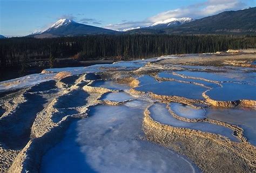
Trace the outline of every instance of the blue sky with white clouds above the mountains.
[[256, 6], [256, 0], [0, 0], [0, 34], [26, 36], [47, 29], [61, 18], [120, 31], [250, 6]]

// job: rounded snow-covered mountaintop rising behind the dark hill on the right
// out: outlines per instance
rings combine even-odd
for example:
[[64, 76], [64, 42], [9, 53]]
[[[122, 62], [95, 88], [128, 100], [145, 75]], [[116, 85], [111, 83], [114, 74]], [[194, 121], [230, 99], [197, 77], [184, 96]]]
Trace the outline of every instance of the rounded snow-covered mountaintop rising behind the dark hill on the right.
[[160, 28], [166, 28], [166, 27], [172, 27], [172, 26], [179, 26], [185, 23], [190, 23], [194, 19], [189, 17], [183, 17], [183, 18], [170, 18], [166, 20], [161, 20], [156, 23], [153, 23], [151, 26], [149, 26], [151, 29], [160, 29]]

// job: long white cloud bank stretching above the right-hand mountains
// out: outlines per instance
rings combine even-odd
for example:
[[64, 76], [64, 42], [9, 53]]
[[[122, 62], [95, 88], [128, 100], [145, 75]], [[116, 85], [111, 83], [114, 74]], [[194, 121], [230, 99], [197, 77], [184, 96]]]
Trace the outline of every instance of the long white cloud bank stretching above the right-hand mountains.
[[240, 10], [243, 8], [247, 8], [247, 1], [250, 0], [207, 0], [203, 3], [185, 6], [184, 8], [164, 11], [158, 13], [156, 16], [146, 18], [143, 21], [109, 24], [104, 27], [111, 30], [123, 31], [129, 28], [149, 26], [158, 21], [163, 21], [170, 18], [190, 17], [194, 19], [199, 19], [206, 16], [215, 15], [223, 11]]

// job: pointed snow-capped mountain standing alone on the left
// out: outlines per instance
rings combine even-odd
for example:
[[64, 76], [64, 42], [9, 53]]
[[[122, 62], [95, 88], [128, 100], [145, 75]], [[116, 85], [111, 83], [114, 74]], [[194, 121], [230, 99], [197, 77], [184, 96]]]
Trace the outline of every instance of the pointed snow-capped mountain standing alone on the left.
[[59, 19], [55, 24], [44, 31], [32, 33], [33, 37], [59, 37], [59, 36], [82, 36], [86, 34], [114, 34], [117, 31], [104, 29], [102, 27], [77, 23], [70, 19]]

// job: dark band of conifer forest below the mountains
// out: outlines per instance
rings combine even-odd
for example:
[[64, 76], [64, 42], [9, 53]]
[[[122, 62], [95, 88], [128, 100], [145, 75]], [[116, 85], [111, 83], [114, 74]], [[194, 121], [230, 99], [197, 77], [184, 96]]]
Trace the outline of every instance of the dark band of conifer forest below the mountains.
[[158, 57], [169, 54], [216, 52], [256, 47], [255, 36], [232, 35], [95, 35], [62, 38], [0, 39], [1, 66], [58, 58], [80, 60]]

